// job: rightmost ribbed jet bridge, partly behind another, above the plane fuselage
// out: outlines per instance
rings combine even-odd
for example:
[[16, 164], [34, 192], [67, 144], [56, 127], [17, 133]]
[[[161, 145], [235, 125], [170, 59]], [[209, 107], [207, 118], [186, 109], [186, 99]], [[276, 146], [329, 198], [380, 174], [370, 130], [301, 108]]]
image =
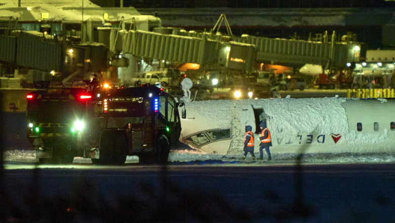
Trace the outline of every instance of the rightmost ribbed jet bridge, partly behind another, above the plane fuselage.
[[[282, 64], [288, 66], [302, 66], [306, 63], [331, 67], [345, 67], [347, 63], [359, 62], [361, 44], [351, 40], [347, 35], [343, 41], [328, 41], [328, 38], [317, 38], [316, 41], [295, 39], [265, 38], [250, 35], [223, 36], [212, 33], [177, 32], [179, 35], [210, 40], [234, 41], [253, 45], [256, 48], [256, 62]], [[336, 40], [333, 33], [332, 40]]]

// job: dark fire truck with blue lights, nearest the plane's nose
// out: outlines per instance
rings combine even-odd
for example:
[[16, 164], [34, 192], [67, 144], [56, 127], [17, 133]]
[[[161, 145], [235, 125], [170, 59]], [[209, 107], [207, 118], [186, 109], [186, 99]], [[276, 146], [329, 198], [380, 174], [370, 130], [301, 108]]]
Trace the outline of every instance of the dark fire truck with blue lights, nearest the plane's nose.
[[121, 165], [133, 155], [140, 163], [167, 163], [170, 147], [180, 137], [182, 103], [159, 87], [145, 85], [116, 90], [97, 106], [103, 110], [96, 118], [99, 145], [87, 153], [93, 164]]

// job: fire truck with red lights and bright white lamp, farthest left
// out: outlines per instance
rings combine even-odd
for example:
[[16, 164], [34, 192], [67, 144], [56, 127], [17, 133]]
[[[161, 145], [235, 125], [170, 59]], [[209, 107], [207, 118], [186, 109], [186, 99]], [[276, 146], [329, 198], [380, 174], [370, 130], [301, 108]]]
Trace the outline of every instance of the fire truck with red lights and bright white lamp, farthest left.
[[89, 81], [38, 82], [27, 94], [27, 138], [41, 163], [69, 164], [97, 144], [95, 104], [110, 93]]

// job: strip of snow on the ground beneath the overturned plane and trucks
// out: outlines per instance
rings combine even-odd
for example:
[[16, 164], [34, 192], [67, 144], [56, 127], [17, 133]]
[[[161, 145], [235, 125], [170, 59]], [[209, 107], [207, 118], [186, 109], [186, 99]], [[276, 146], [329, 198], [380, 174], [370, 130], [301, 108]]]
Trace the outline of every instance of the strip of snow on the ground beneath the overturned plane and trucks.
[[[256, 154], [259, 151], [255, 150]], [[250, 155], [247, 159], [242, 161], [240, 155], [219, 155], [206, 154], [199, 151], [190, 150], [189, 148], [180, 148], [173, 150], [169, 155], [169, 164], [235, 164], [243, 165], [252, 161]], [[296, 162], [298, 154], [272, 154], [271, 164], [293, 164]], [[5, 151], [4, 157], [6, 162], [21, 162], [21, 163], [35, 163], [38, 160], [35, 158], [35, 152], [32, 150], [13, 150]], [[90, 163], [90, 159], [82, 157], [74, 158], [74, 163]], [[126, 163], [137, 163], [137, 156], [128, 156]], [[395, 153], [377, 153], [377, 154], [305, 154], [302, 162], [305, 164], [321, 164], [321, 163], [393, 163], [395, 162]], [[267, 161], [255, 162], [255, 165], [266, 165]]]

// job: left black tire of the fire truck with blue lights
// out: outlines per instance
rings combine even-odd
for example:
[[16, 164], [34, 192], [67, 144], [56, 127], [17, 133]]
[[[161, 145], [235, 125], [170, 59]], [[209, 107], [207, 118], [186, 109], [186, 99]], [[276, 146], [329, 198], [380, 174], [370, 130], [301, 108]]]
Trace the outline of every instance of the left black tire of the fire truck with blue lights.
[[99, 159], [92, 159], [97, 165], [123, 165], [127, 157], [127, 140], [118, 131], [103, 132], [100, 137]]

